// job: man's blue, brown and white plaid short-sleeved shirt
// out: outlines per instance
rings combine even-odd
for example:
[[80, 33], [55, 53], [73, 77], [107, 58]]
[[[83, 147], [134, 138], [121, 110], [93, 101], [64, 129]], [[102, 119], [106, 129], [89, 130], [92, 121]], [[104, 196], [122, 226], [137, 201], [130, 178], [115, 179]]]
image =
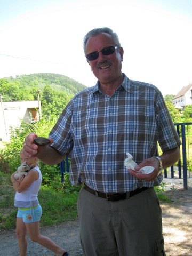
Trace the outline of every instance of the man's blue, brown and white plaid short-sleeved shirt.
[[181, 145], [163, 96], [151, 84], [123, 83], [112, 96], [99, 90], [99, 82], [79, 92], [63, 110], [50, 137], [52, 147], [71, 157], [70, 181], [105, 193], [123, 193], [157, 186], [133, 177], [124, 166], [126, 152], [139, 164]]

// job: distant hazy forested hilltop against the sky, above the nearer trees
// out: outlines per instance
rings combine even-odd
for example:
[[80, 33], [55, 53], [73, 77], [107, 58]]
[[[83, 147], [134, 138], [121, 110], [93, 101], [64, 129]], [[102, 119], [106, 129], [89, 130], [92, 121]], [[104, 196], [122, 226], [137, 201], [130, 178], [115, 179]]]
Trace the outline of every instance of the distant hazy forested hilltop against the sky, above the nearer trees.
[[[19, 89], [23, 91], [26, 91], [27, 89], [31, 90], [32, 88], [36, 88], [37, 90], [42, 91], [45, 85], [49, 85], [51, 89], [66, 92], [68, 95], [76, 94], [77, 92], [82, 91], [86, 88], [85, 85], [80, 84], [74, 79], [71, 79], [64, 75], [53, 73], [38, 73], [30, 75], [21, 75], [17, 76], [16, 78], [10, 76], [0, 79], [0, 94], [7, 94], [7, 92], [3, 92], [1, 90], [2, 84], [4, 84], [3, 82], [5, 81], [11, 84], [13, 89], [15, 86], [17, 87], [18, 85]], [[13, 95], [10, 96], [14, 98]], [[21, 99], [18, 98], [18, 100]]]

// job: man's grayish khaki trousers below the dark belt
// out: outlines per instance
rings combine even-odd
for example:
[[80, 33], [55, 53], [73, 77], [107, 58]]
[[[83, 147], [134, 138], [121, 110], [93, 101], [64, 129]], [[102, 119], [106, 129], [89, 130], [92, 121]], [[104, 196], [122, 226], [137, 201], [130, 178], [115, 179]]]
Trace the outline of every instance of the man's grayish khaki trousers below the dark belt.
[[82, 188], [77, 209], [84, 256], [165, 256], [154, 188], [116, 202]]

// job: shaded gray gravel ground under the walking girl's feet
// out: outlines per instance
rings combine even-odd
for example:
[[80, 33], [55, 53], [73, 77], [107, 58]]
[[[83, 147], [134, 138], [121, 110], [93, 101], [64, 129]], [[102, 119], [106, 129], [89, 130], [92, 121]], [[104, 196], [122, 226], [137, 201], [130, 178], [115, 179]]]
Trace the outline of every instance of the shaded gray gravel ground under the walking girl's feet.
[[[79, 243], [78, 220], [60, 223], [51, 227], [42, 227], [41, 234], [48, 236], [60, 247], [68, 251], [70, 256], [82, 256], [82, 249]], [[0, 230], [0, 255], [18, 256], [18, 242], [15, 230]], [[43, 246], [31, 242], [28, 238], [27, 256], [53, 256], [54, 253]]]

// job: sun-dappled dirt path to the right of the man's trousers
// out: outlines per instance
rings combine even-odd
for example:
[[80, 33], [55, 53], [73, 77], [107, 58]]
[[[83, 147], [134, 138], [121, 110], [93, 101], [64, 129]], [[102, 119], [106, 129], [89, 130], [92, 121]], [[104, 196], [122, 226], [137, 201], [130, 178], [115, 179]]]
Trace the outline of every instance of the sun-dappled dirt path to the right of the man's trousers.
[[161, 203], [166, 256], [192, 255], [192, 188], [165, 191], [173, 203]]

